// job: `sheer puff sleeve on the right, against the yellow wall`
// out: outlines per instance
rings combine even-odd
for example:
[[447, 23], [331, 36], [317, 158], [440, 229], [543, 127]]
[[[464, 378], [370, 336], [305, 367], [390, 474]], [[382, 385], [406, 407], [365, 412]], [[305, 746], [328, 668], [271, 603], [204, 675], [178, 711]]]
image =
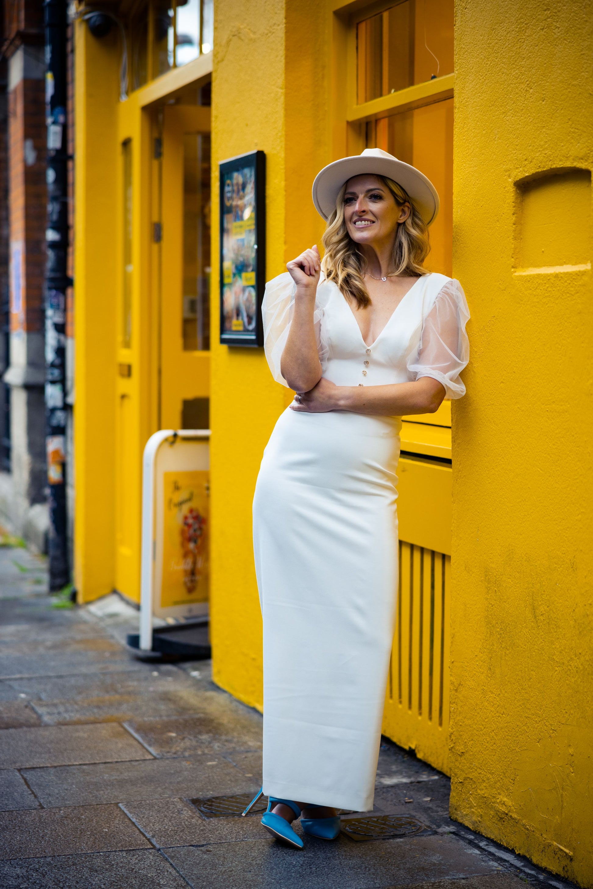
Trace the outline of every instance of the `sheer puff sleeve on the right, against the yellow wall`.
[[465, 325], [469, 308], [461, 284], [454, 278], [437, 293], [422, 324], [418, 352], [408, 359], [413, 379], [432, 377], [445, 387], [445, 398], [461, 398], [465, 386], [459, 378], [469, 361]]

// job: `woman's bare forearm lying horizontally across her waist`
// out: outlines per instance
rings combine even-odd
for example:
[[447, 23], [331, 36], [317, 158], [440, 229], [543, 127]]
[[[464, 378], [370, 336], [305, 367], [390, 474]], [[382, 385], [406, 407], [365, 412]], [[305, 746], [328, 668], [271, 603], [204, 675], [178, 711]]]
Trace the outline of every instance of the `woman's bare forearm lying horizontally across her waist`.
[[401, 417], [434, 413], [445, 398], [445, 387], [432, 377], [388, 386], [336, 386], [334, 411]]

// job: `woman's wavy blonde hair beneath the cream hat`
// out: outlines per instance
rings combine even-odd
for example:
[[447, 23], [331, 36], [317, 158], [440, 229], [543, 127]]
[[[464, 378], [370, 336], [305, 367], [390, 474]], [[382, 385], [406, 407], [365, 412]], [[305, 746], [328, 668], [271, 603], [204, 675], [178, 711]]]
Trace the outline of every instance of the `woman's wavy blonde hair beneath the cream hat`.
[[[397, 226], [396, 241], [393, 246], [393, 270], [397, 275], [407, 274], [416, 277], [426, 275], [423, 262], [429, 255], [429, 229], [421, 217], [413, 200], [386, 176], [377, 176], [394, 196], [396, 204], [410, 204], [410, 215]], [[346, 185], [340, 189], [336, 208], [327, 220], [323, 237], [325, 256], [322, 268], [328, 281], [335, 281], [347, 300], [356, 300], [358, 308], [371, 305], [371, 297], [365, 286], [366, 260], [356, 241], [349, 236], [344, 220], [344, 195]]]

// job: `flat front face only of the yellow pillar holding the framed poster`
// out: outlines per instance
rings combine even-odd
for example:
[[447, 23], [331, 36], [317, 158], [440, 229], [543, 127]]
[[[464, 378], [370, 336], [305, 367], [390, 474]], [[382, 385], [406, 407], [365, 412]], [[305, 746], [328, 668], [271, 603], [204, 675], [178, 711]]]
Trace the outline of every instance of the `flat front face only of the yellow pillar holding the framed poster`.
[[[218, 164], [266, 152], [268, 276], [284, 260], [284, 10], [265, 0], [214, 6], [212, 196]], [[254, 84], [257, 88], [254, 89]], [[219, 207], [212, 200], [212, 255]], [[283, 408], [262, 349], [219, 343], [218, 261], [212, 262], [211, 639], [217, 683], [261, 706], [261, 619], [253, 568], [251, 504], [261, 453]]]

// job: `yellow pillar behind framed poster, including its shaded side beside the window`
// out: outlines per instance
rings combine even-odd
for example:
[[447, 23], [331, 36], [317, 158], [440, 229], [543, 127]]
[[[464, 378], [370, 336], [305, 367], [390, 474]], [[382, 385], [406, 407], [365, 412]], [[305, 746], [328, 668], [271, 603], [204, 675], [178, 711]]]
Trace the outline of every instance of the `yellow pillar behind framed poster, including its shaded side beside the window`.
[[[310, 189], [317, 170], [331, 159], [323, 91], [329, 15], [310, 0], [292, 7], [285, 12], [284, 4], [267, 0], [219, 0], [214, 6], [212, 194], [218, 194], [221, 160], [257, 148], [266, 152], [268, 279], [319, 240], [324, 225]], [[213, 256], [218, 226], [213, 201]], [[292, 395], [272, 380], [263, 349], [220, 346], [217, 267], [212, 262], [213, 675], [237, 698], [261, 709], [252, 497], [261, 454]]]

